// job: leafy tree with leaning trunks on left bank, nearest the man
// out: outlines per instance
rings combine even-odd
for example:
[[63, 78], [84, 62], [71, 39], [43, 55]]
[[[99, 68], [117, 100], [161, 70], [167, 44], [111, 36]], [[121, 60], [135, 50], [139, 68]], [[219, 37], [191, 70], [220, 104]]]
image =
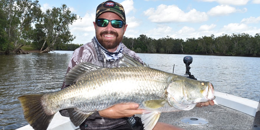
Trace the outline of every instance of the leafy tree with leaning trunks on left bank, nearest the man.
[[39, 26], [42, 27], [46, 36], [40, 52], [49, 52], [55, 46], [61, 46], [61, 44], [73, 41], [75, 36], [70, 34], [68, 25], [77, 19], [77, 15], [71, 13], [69, 8], [64, 4], [61, 8], [53, 7], [52, 10], [46, 10], [46, 13], [43, 14], [43, 20], [40, 23], [42, 26]]

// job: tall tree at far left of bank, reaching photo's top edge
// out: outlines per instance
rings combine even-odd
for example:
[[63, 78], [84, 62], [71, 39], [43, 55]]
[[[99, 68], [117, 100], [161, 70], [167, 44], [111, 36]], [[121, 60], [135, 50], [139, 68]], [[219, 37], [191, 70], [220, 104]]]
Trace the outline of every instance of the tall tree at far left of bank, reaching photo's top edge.
[[3, 10], [7, 15], [8, 26], [5, 29], [8, 34], [8, 41], [10, 42], [10, 50], [14, 53], [19, 53], [24, 42], [28, 39], [23, 39], [24, 32], [31, 29], [31, 24], [35, 23], [41, 14], [40, 5], [38, 1], [32, 2], [31, 0], [9, 0], [4, 1]]

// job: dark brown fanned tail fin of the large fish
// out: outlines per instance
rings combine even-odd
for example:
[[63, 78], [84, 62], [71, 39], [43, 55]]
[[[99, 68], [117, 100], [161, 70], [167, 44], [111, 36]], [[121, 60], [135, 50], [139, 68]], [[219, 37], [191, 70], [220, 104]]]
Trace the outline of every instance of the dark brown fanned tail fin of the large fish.
[[25, 120], [35, 130], [46, 130], [54, 114], [49, 115], [44, 112], [41, 98], [44, 94], [30, 94], [19, 96]]

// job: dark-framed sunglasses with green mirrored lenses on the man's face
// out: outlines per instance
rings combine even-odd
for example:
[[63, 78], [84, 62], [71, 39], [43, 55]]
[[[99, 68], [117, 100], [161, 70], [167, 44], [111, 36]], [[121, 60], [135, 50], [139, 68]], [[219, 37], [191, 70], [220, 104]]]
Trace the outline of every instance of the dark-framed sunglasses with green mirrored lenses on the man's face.
[[96, 20], [96, 25], [98, 25], [99, 27], [107, 27], [109, 22], [111, 22], [111, 25], [114, 28], [121, 28], [121, 27], [123, 27], [124, 24], [126, 24], [122, 20], [117, 20], [117, 19], [107, 20], [107, 19], [104, 19], [104, 18], [99, 18], [99, 19]]

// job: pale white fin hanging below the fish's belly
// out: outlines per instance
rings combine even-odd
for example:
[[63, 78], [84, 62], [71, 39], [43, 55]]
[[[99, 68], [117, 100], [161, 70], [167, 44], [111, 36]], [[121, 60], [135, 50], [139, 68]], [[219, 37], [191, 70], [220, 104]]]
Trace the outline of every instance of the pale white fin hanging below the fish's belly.
[[144, 124], [145, 130], [152, 130], [155, 124], [157, 123], [161, 112], [144, 110], [141, 115], [142, 123]]

